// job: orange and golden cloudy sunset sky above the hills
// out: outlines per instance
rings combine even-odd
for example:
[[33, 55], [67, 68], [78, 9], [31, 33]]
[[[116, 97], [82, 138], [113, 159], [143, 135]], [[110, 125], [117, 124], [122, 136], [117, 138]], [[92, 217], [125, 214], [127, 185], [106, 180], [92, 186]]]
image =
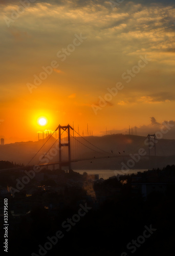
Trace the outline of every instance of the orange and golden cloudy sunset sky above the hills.
[[130, 125], [145, 136], [174, 122], [173, 1], [0, 0], [0, 10], [5, 143], [73, 122], [81, 134], [88, 123], [93, 135]]

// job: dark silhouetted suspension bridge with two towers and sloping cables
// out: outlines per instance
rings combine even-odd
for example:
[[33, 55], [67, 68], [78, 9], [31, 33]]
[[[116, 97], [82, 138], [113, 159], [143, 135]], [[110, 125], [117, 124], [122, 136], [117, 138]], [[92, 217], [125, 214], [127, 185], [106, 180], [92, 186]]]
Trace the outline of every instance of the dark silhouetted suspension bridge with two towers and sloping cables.
[[[55, 139], [54, 134], [57, 133], [57, 131], [58, 138]], [[133, 148], [132, 151], [129, 151], [129, 153], [127, 153], [125, 151], [121, 151], [121, 148], [118, 148], [117, 150], [114, 151], [113, 149], [106, 147], [106, 145], [103, 145], [99, 141], [95, 145], [94, 140], [92, 140], [92, 138], [93, 136], [81, 136], [79, 132], [73, 129], [69, 124], [65, 126], [61, 126], [59, 124], [56, 130], [53, 133], [51, 133], [45, 139], [45, 141], [40, 140], [43, 141], [42, 145], [40, 146], [39, 150], [34, 154], [34, 156], [30, 159], [27, 165], [21, 167], [14, 167], [13, 169], [28, 169], [34, 168], [34, 166], [44, 167], [46, 169], [48, 169], [49, 167], [52, 167], [52, 169], [56, 169], [56, 166], [58, 166], [59, 169], [62, 169], [62, 167], [64, 166], [71, 170], [71, 164], [73, 162], [85, 160], [93, 161], [105, 158], [122, 158], [123, 160], [125, 160], [130, 157], [131, 153], [137, 154], [139, 148], [141, 148], [143, 146], [143, 143], [145, 142], [145, 137], [143, 137], [143, 141], [141, 141], [140, 144]], [[151, 157], [150, 148], [153, 148], [154, 156], [156, 156], [157, 142], [159, 141], [157, 140], [155, 134], [148, 134], [148, 151], [145, 152], [146, 154], [144, 155], [144, 157], [147, 157], [148, 160]], [[49, 147], [47, 145], [49, 145]]]

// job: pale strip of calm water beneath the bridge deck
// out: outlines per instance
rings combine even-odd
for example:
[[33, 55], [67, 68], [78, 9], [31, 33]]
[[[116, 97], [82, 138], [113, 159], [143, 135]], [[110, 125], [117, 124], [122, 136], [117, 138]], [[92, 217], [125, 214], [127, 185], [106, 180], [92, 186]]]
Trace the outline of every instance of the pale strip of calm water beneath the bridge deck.
[[[145, 170], [147, 169], [133, 169], [133, 170], [128, 170], [127, 174], [137, 174], [138, 172], [143, 173]], [[74, 172], [83, 174], [84, 172], [86, 172], [87, 174], [98, 174], [99, 175], [99, 179], [103, 178], [104, 180], [107, 180], [108, 178], [112, 177], [112, 176], [116, 176], [116, 172], [120, 175], [124, 175], [120, 170], [75, 170]]]

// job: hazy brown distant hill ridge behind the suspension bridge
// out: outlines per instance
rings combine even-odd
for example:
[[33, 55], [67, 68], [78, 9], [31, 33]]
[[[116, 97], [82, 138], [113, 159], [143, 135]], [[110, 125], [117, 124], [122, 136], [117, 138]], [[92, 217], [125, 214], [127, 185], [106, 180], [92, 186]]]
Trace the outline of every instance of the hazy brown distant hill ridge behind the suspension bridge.
[[[150, 161], [148, 161], [148, 140], [146, 137], [112, 134], [101, 137], [89, 136], [84, 138], [85, 140], [81, 137], [75, 137], [75, 139], [71, 138], [72, 159], [92, 158], [92, 160], [73, 163], [73, 169], [120, 169], [121, 162], [127, 163], [128, 159], [131, 158], [130, 154], [138, 154], [140, 148], [143, 148], [145, 156], [142, 157], [138, 163], [136, 162], [132, 168], [164, 167], [167, 164], [175, 163], [175, 140], [157, 140], [157, 158], [155, 159], [154, 157], [155, 147], [153, 146], [150, 150]], [[35, 142], [16, 142], [0, 145], [0, 159], [27, 164], [47, 139], [48, 138]], [[77, 140], [80, 143], [77, 142]], [[58, 147], [56, 147], [58, 141], [53, 146], [54, 150], [49, 152], [46, 158], [42, 159], [55, 141], [55, 138], [52, 137], [46, 145], [42, 147], [39, 154], [31, 163], [37, 164], [39, 160], [41, 160], [41, 163], [58, 161]], [[67, 138], [65, 138], [64, 141], [67, 142]], [[115, 156], [115, 158], [96, 159], [97, 157], [108, 156]], [[66, 159], [67, 148], [64, 147], [62, 150], [62, 160]]]

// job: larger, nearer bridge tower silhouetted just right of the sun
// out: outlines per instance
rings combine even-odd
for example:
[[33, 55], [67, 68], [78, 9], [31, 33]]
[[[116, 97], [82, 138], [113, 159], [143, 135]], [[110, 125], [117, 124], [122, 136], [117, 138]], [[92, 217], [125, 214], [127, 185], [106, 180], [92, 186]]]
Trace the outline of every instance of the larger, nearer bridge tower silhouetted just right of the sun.
[[[67, 126], [61, 126], [58, 125], [58, 134], [59, 134], [59, 169], [61, 169], [61, 166], [69, 166], [69, 171], [71, 170], [71, 139], [70, 139], [70, 129], [73, 130], [73, 128], [68, 124]], [[68, 143], [61, 143], [61, 131], [68, 130]], [[61, 147], [67, 146], [68, 147], [68, 162], [62, 162], [61, 158]]]

